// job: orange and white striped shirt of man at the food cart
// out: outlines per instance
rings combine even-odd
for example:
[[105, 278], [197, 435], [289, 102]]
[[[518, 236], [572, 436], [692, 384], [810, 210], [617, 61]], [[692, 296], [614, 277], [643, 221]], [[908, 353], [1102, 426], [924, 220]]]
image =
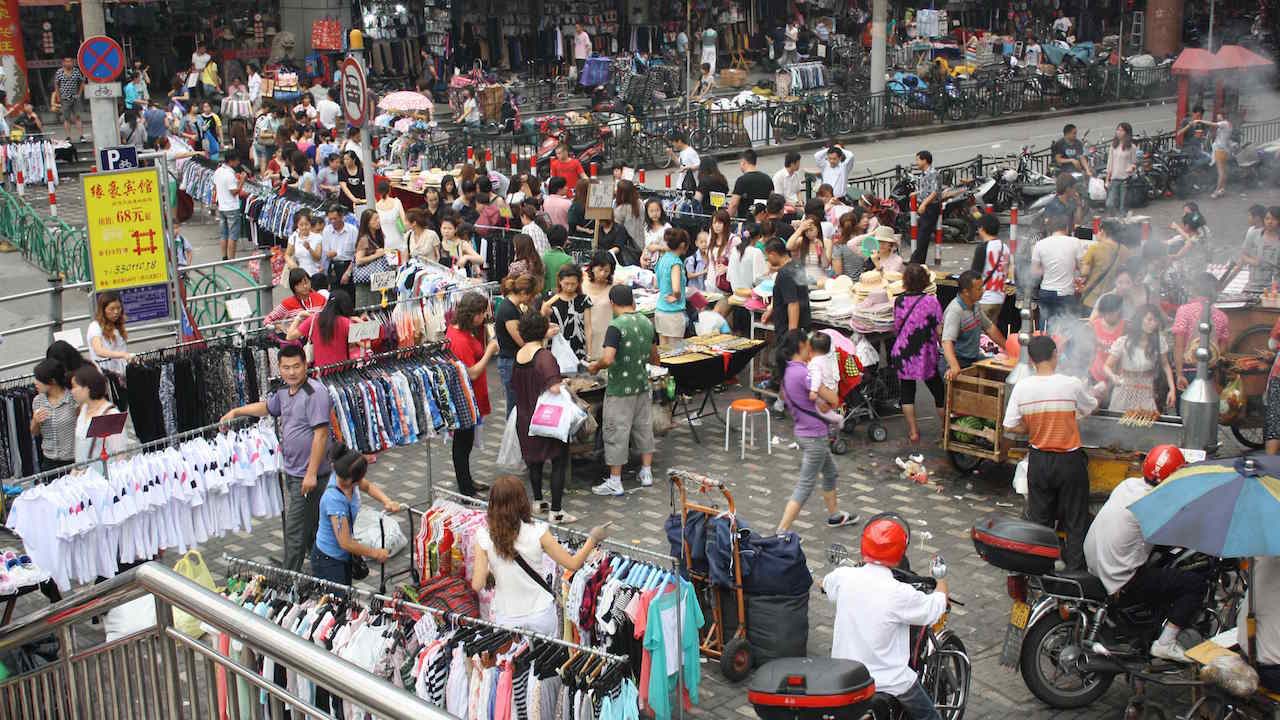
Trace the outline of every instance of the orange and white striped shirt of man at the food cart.
[[1080, 447], [1079, 418], [1098, 401], [1084, 383], [1070, 375], [1030, 375], [1014, 386], [1005, 411], [1005, 428], [1025, 423], [1032, 447], [1043, 452], [1071, 452]]

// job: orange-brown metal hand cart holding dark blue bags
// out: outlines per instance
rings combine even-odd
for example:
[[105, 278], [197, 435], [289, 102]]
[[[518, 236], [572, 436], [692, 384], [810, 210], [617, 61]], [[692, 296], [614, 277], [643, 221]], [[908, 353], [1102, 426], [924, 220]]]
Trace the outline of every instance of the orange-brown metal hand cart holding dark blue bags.
[[[737, 533], [733, 533], [733, 600], [737, 602], [737, 630], [733, 632], [733, 637], [724, 639], [724, 610], [721, 607], [719, 588], [717, 588], [710, 582], [709, 574], [701, 574], [692, 569], [692, 551], [689, 546], [689, 541], [685, 537], [684, 528], [689, 525], [690, 512], [701, 512], [707, 515], [707, 520], [716, 518], [723, 512], [733, 514], [733, 496], [724, 487], [721, 480], [714, 480], [705, 475], [692, 473], [689, 470], [681, 470], [672, 468], [667, 471], [667, 478], [671, 480], [671, 505], [672, 512], [677, 510], [676, 506], [676, 493], [680, 495], [680, 519], [681, 519], [681, 562], [685, 565], [685, 571], [689, 574], [689, 582], [694, 584], [695, 592], [703, 592], [707, 597], [707, 605], [712, 610], [712, 621], [707, 625], [707, 633], [703, 635], [700, 643], [701, 653], [707, 657], [719, 660], [721, 674], [724, 675], [730, 682], [739, 682], [746, 679], [751, 674], [751, 646], [746, 641], [746, 593], [742, 589], [742, 555], [741, 546]], [[685, 489], [686, 483], [696, 484], [699, 495], [707, 495], [713, 491], [719, 491], [724, 496], [724, 502], [728, 505], [727, 510], [721, 510], [710, 505], [704, 505], [700, 502], [690, 502], [689, 493]]]

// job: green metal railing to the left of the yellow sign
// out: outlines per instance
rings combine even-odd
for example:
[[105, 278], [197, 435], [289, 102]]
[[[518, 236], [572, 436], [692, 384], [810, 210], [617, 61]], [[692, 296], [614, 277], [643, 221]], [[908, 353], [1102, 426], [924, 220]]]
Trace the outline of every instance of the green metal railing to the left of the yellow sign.
[[65, 282], [90, 279], [84, 228], [68, 225], [36, 211], [26, 200], [0, 188], [0, 238], [8, 240], [31, 264]]

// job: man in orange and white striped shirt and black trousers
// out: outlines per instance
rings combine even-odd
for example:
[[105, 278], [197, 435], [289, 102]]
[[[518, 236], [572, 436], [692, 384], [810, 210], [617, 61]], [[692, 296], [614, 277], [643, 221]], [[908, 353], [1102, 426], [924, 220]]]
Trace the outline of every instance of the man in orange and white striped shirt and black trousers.
[[1066, 532], [1068, 570], [1085, 570], [1089, 532], [1089, 459], [1080, 448], [1078, 420], [1098, 401], [1079, 379], [1057, 374], [1057, 345], [1036, 336], [1027, 346], [1036, 374], [1009, 393], [1005, 428], [1030, 436], [1027, 468], [1027, 519]]

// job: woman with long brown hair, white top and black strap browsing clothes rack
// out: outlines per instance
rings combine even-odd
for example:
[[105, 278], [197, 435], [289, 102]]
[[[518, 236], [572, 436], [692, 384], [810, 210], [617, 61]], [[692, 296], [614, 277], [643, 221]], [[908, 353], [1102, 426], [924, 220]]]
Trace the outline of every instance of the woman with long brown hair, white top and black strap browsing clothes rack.
[[486, 512], [488, 523], [475, 534], [472, 589], [480, 592], [492, 577], [495, 623], [559, 637], [552, 583], [540, 575], [543, 557], [549, 556], [561, 568], [575, 571], [608, 537], [609, 524], [591, 528], [582, 547], [570, 552], [544, 523], [534, 520], [525, 483], [512, 475], [500, 475], [494, 480]]

